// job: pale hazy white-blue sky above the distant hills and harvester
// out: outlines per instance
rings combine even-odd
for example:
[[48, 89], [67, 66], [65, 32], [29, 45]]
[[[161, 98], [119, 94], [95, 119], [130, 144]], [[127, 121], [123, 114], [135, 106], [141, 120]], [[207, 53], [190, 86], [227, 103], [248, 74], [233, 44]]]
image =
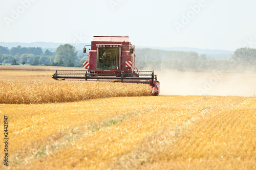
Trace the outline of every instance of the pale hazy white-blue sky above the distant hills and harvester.
[[255, 0], [0, 0], [0, 41], [90, 42], [130, 36], [137, 46], [256, 48]]

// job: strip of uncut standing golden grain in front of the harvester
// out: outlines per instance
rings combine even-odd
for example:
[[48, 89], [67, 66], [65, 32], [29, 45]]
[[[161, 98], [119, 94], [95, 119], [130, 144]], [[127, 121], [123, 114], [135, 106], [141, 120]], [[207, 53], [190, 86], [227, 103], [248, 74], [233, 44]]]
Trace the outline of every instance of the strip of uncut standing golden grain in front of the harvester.
[[86, 81], [0, 80], [0, 103], [36, 104], [76, 102], [113, 96], [151, 95], [147, 84]]

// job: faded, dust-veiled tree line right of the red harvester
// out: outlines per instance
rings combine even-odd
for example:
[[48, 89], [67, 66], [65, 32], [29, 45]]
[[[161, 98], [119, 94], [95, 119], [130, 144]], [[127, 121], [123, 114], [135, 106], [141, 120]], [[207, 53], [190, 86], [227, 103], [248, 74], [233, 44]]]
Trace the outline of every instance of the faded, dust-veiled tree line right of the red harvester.
[[183, 51], [162, 51], [151, 48], [136, 49], [135, 65], [140, 70], [178, 71], [256, 71], [256, 49], [239, 48], [231, 58], [212, 60], [205, 54]]

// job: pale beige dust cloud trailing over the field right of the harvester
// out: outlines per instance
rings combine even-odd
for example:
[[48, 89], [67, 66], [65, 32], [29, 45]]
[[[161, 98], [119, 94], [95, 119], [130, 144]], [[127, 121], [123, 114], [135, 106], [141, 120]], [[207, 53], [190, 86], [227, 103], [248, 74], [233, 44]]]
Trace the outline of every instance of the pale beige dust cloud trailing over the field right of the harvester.
[[256, 95], [256, 74], [157, 71], [160, 95]]

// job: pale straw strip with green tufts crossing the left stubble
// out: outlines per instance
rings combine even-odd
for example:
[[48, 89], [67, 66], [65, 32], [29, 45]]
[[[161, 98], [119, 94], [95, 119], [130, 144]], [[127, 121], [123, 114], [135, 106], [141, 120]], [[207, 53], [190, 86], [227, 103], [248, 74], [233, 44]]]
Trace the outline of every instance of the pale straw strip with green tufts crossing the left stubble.
[[[151, 108], [151, 109], [154, 109]], [[146, 114], [148, 111], [145, 111], [141, 114]], [[107, 117], [102, 120], [95, 120], [89, 122], [89, 124], [82, 123], [77, 126], [73, 126], [67, 129], [62, 129], [59, 132], [52, 133], [51, 135], [40, 138], [29, 145], [23, 145], [22, 150], [18, 150], [14, 152], [14, 156], [12, 158], [11, 165], [21, 165], [29, 163], [35, 159], [39, 159], [45, 157], [47, 155], [52, 154], [55, 151], [61, 150], [65, 148], [70, 143], [75, 142], [81, 138], [84, 138], [88, 135], [91, 135], [97, 132], [100, 129], [104, 129], [115, 125], [117, 123], [123, 122], [126, 119], [139, 116], [138, 114], [119, 114], [112, 117]], [[27, 150], [27, 152], [24, 152]]]

